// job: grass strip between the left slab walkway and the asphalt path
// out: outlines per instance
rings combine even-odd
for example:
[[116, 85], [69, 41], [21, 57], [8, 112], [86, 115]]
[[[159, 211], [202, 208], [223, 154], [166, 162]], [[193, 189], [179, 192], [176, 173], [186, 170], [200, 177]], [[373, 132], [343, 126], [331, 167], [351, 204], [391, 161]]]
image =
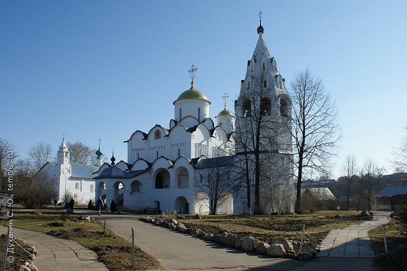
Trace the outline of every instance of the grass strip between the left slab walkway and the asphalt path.
[[[111, 254], [118, 249], [126, 240], [116, 235], [111, 230], [105, 230], [103, 235], [103, 225], [99, 222], [73, 222], [64, 221], [67, 218], [65, 211], [40, 210], [42, 214], [33, 212], [14, 212], [15, 228], [44, 232], [53, 236], [74, 240], [80, 245], [95, 251], [98, 259]], [[76, 218], [79, 215], [69, 215], [69, 218]], [[59, 222], [59, 223], [55, 223]], [[50, 226], [49, 224], [59, 226]], [[0, 223], [6, 226], [6, 223]], [[131, 269], [131, 241], [118, 252], [103, 260], [110, 270]], [[135, 269], [156, 269], [161, 265], [152, 255], [143, 252], [135, 247]]]

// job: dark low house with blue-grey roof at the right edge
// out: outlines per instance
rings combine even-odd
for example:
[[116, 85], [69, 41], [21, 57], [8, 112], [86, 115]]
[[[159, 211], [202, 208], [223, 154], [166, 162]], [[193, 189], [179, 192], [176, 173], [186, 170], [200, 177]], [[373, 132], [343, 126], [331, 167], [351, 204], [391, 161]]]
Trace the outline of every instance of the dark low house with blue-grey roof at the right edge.
[[407, 185], [389, 185], [376, 196], [376, 210], [392, 211], [407, 200]]

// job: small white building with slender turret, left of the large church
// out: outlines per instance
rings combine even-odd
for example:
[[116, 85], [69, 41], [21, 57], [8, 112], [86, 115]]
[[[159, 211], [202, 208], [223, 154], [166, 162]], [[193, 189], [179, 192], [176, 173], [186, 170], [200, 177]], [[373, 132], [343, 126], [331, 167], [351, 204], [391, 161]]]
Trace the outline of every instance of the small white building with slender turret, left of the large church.
[[70, 164], [69, 150], [63, 139], [57, 151], [57, 162], [48, 161], [40, 171], [46, 171], [50, 178], [56, 179], [56, 200], [62, 202], [66, 192], [72, 193], [76, 203], [86, 204], [95, 199], [95, 180], [92, 176], [99, 167]]

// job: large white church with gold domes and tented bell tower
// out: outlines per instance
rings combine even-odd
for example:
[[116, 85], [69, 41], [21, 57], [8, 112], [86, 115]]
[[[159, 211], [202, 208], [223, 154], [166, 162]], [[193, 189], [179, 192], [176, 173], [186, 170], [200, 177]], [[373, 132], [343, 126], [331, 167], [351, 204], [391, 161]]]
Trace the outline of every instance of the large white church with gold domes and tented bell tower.
[[[244, 123], [248, 121], [247, 115], [254, 106], [247, 103], [246, 97], [248, 91], [261, 79], [262, 89], [267, 89], [261, 108], [271, 120], [270, 123], [274, 123], [270, 125], [275, 125], [270, 129], [274, 133], [267, 136], [273, 138], [274, 145], [264, 142], [269, 146], [267, 150], [272, 153], [273, 159], [269, 179], [273, 179], [273, 187], [279, 191], [276, 199], [288, 198], [288, 209], [292, 209], [294, 204], [290, 199], [294, 195], [294, 182], [292, 175], [289, 175], [293, 172], [290, 151], [292, 139], [287, 128], [284, 129], [282, 125], [290, 114], [291, 103], [284, 79], [263, 40], [261, 21], [257, 33], [258, 41], [248, 61], [239, 98], [235, 101], [236, 129], [235, 116], [226, 109], [226, 103], [224, 110], [215, 117], [216, 124], [210, 118], [211, 102], [194, 88], [196, 68], [192, 66], [191, 88], [173, 102], [174, 117], [169, 121], [169, 126], [157, 124], [148, 132], [136, 130], [131, 134], [125, 141], [128, 146], [127, 162], [122, 160], [115, 164], [113, 155], [110, 165], [104, 163], [97, 170], [97, 176], [94, 177], [96, 198], [100, 196], [108, 204], [114, 200], [118, 206], [134, 210], [152, 207], [163, 211], [177, 210], [179, 213], [207, 213], [208, 207], [202, 206], [202, 200], [197, 198], [195, 191], [195, 183], [201, 178], [202, 161], [220, 155], [225, 157], [224, 162], [228, 165], [238, 163], [234, 158], [236, 156], [231, 154], [236, 151], [242, 155], [244, 150], [241, 145], [235, 144], [235, 139], [241, 136], [238, 133], [246, 132]], [[276, 130], [283, 132], [277, 134]], [[261, 189], [266, 192], [267, 185]], [[217, 213], [250, 212], [244, 190], [240, 188], [236, 193], [229, 192], [228, 199], [218, 208]], [[274, 210], [275, 203], [268, 205], [268, 211]]]

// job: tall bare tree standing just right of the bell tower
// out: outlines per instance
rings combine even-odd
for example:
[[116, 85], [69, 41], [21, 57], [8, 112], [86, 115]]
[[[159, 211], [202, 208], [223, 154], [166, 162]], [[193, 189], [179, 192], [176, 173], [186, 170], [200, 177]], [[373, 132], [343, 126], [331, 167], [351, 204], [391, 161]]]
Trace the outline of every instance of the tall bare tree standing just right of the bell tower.
[[322, 79], [307, 68], [295, 74], [291, 84], [292, 135], [297, 167], [296, 212], [301, 211], [301, 183], [304, 172], [323, 171], [341, 138], [338, 110], [325, 92]]

